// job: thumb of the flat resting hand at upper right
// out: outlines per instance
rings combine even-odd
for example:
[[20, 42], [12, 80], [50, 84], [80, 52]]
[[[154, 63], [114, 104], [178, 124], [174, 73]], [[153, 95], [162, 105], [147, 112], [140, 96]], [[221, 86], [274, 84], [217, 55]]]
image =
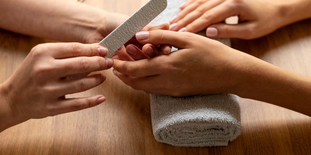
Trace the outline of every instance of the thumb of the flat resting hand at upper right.
[[253, 33], [249, 23], [225, 24], [218, 23], [209, 26], [206, 29], [206, 36], [211, 38], [241, 38], [250, 39]]

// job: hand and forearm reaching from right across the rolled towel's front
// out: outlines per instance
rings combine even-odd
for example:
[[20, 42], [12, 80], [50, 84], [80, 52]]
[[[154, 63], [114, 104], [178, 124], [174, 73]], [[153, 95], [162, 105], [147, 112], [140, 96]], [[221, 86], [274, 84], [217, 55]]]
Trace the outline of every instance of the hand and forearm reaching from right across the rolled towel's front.
[[155, 30], [139, 32], [136, 38], [180, 50], [151, 59], [114, 60], [115, 75], [134, 89], [171, 96], [231, 93], [311, 116], [309, 76], [193, 33]]

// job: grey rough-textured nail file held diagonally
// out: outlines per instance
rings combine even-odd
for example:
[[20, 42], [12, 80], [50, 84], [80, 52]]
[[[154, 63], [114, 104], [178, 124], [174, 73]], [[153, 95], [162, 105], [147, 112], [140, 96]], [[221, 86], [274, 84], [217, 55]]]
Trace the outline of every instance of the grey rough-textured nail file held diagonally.
[[[167, 0], [150, 0], [142, 6], [98, 44], [108, 49], [108, 55], [106, 57], [114, 54], [122, 45], [134, 37], [137, 32], [142, 30], [164, 11], [166, 7]], [[72, 75], [67, 77], [67, 79], [84, 77], [88, 74], [89, 73]]]

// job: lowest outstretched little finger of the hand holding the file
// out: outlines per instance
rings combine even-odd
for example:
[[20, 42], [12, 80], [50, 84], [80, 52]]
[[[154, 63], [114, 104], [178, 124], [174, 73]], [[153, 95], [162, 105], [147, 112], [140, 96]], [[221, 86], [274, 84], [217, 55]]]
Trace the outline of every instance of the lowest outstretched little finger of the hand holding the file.
[[96, 95], [82, 98], [63, 99], [55, 105], [54, 115], [79, 111], [86, 108], [94, 107], [103, 103], [106, 98], [103, 95]]

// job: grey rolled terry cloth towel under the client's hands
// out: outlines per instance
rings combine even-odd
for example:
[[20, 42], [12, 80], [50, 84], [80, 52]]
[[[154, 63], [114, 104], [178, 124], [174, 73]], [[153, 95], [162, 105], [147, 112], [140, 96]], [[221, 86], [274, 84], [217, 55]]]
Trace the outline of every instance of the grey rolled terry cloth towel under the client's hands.
[[[182, 2], [184, 0], [168, 0], [167, 9], [151, 24], [167, 23], [180, 11]], [[217, 40], [230, 46], [229, 39]], [[172, 97], [151, 94], [150, 104], [153, 134], [159, 142], [185, 147], [227, 146], [240, 134], [240, 107], [236, 95]]]

